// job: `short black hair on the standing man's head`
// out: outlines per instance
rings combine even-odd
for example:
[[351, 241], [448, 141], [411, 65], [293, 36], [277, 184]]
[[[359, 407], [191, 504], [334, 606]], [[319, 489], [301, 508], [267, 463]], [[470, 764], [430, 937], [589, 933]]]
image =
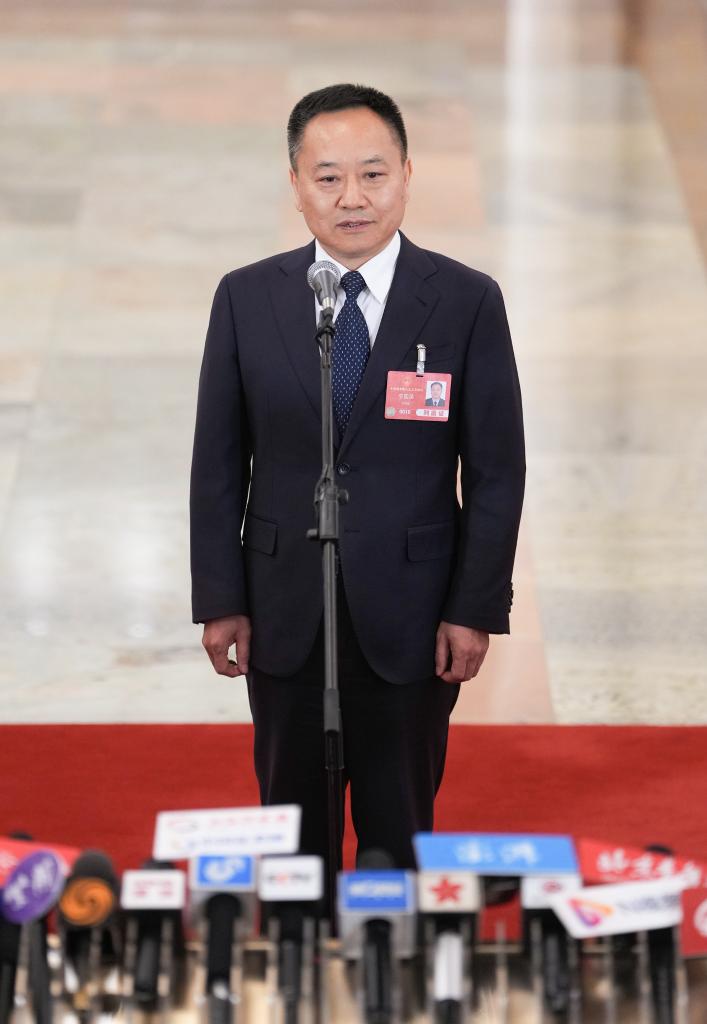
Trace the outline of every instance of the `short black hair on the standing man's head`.
[[287, 148], [290, 165], [296, 168], [297, 154], [302, 144], [302, 135], [309, 121], [318, 114], [332, 114], [346, 111], [351, 106], [368, 106], [392, 129], [400, 143], [403, 160], [408, 157], [408, 134], [403, 123], [403, 115], [394, 99], [370, 85], [327, 85], [324, 89], [308, 92], [295, 103], [287, 122]]

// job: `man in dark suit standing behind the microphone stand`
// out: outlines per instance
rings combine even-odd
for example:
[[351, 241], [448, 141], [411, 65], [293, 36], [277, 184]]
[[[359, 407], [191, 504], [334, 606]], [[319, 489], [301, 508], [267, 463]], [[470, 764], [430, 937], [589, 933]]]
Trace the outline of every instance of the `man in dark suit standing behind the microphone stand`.
[[[337, 575], [345, 775], [360, 849], [412, 866], [459, 684], [489, 634], [509, 632], [521, 391], [496, 282], [399, 231], [412, 168], [394, 102], [361, 86], [319, 90], [294, 108], [288, 142], [315, 240], [216, 289], [192, 469], [193, 616], [216, 672], [247, 677], [261, 800], [301, 804], [302, 849], [324, 854], [322, 561], [305, 539], [320, 357], [306, 271], [331, 259], [343, 274], [335, 461], [349, 495]], [[427, 373], [451, 374], [444, 421], [388, 418], [388, 375], [415, 372], [417, 344]]]

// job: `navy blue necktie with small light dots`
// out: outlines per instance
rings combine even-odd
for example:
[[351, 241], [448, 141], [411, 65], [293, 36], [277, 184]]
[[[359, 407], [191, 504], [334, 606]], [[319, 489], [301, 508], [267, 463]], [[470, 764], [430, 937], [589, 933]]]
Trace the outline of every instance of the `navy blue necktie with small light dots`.
[[346, 301], [341, 306], [334, 324], [331, 384], [334, 416], [343, 436], [354, 400], [361, 386], [364, 370], [371, 350], [366, 317], [357, 302], [366, 282], [358, 270], [349, 270], [341, 279]]

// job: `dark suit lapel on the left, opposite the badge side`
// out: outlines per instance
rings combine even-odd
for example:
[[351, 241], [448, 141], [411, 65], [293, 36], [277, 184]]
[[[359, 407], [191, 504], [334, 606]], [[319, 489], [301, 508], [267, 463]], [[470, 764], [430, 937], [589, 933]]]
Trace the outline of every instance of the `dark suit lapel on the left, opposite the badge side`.
[[[271, 283], [271, 302], [287, 356], [304, 389], [317, 421], [322, 422], [322, 372], [315, 331], [315, 295], [306, 271], [315, 261], [315, 243], [286, 253]], [[334, 419], [334, 445], [339, 433]]]

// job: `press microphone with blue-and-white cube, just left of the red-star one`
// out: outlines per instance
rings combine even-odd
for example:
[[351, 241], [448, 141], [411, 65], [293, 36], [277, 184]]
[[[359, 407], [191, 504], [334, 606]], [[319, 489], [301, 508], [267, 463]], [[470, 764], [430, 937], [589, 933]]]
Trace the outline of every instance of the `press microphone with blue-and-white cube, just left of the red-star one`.
[[385, 851], [367, 850], [356, 871], [339, 876], [339, 931], [344, 956], [362, 962], [367, 1024], [392, 1020], [393, 952], [415, 951], [414, 876], [391, 865]]

